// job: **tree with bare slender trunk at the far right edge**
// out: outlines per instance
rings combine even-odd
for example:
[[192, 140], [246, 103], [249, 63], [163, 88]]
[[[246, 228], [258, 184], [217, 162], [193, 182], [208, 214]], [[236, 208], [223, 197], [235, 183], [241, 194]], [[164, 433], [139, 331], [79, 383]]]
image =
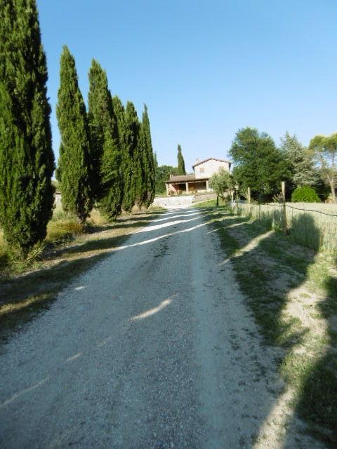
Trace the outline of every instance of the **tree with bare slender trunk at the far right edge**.
[[329, 183], [332, 201], [336, 202], [337, 179], [337, 133], [328, 137], [316, 135], [310, 140], [309, 148], [319, 161], [322, 177]]

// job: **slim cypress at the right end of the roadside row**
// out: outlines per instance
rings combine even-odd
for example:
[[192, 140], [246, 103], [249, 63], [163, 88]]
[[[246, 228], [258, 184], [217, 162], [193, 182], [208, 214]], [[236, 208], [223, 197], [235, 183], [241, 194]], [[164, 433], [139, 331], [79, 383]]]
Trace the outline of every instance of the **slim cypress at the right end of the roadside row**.
[[143, 146], [143, 204], [148, 207], [154, 200], [155, 173], [150, 120], [147, 114], [146, 105], [144, 105], [143, 121], [141, 126], [141, 142]]

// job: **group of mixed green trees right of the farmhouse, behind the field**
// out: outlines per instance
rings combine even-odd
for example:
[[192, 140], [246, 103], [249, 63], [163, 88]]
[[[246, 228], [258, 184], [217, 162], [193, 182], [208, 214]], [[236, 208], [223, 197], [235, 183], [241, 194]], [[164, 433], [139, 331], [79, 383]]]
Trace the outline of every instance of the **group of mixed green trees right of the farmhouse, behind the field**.
[[210, 180], [210, 187], [219, 194], [237, 187], [245, 196], [250, 187], [252, 199], [270, 201], [285, 181], [289, 197], [303, 189], [312, 198], [324, 200], [330, 194], [336, 201], [337, 133], [315, 136], [308, 147], [286, 133], [277, 147], [267, 133], [246, 127], [237, 131], [229, 154], [234, 162], [232, 175], [221, 173]]

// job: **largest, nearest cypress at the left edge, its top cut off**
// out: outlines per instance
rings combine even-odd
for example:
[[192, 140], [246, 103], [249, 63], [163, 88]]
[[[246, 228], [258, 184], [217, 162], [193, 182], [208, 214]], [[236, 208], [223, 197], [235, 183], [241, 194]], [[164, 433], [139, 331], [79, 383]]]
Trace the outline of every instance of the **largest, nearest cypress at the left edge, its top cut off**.
[[46, 57], [34, 0], [0, 0], [0, 222], [25, 257], [53, 210]]

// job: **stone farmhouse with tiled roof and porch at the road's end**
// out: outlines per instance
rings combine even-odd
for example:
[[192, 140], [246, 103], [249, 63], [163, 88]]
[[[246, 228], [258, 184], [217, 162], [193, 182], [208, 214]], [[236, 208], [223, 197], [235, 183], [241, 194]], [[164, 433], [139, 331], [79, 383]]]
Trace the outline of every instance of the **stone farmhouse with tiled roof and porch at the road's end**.
[[194, 173], [191, 175], [172, 176], [166, 181], [166, 195], [189, 194], [195, 192], [211, 192], [209, 178], [217, 173], [220, 168], [230, 171], [230, 161], [209, 157], [204, 161], [197, 159], [192, 166]]

